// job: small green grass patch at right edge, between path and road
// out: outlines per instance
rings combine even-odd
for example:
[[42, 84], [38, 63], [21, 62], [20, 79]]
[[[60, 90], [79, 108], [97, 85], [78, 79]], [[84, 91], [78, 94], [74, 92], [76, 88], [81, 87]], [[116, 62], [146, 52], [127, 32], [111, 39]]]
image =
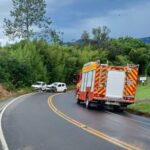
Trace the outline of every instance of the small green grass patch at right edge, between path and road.
[[137, 113], [150, 115], [150, 103], [135, 103], [128, 106], [128, 108]]

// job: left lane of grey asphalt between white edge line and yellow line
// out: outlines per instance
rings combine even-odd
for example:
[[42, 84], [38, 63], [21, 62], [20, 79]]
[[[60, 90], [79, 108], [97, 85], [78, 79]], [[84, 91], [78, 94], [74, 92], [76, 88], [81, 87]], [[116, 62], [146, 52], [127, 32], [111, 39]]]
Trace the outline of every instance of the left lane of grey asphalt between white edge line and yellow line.
[[48, 107], [49, 95], [28, 96], [6, 109], [2, 127], [10, 150], [122, 149], [58, 117]]

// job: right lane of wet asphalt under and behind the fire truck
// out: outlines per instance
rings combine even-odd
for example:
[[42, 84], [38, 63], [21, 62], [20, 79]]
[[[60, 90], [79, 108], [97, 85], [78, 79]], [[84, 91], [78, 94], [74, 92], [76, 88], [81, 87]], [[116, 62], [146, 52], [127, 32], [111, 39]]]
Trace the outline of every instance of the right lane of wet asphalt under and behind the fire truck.
[[107, 135], [142, 149], [150, 149], [150, 119], [127, 112], [87, 110], [76, 104], [74, 93], [54, 98], [54, 105], [64, 114]]

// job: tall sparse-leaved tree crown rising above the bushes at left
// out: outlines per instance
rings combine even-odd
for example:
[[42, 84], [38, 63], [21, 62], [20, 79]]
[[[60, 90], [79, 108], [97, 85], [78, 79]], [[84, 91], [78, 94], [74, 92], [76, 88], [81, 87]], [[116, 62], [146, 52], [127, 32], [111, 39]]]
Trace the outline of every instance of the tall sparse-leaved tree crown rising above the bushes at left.
[[45, 17], [45, 0], [12, 0], [10, 19], [4, 19], [5, 35], [10, 38], [29, 39], [35, 28], [49, 28], [50, 18]]

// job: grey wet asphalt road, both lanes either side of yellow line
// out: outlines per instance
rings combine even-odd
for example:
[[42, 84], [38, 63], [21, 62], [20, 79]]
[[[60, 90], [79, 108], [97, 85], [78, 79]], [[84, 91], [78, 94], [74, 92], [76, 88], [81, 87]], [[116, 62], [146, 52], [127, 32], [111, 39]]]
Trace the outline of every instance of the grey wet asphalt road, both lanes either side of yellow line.
[[[48, 105], [50, 93], [37, 93], [10, 105], [2, 118], [10, 150], [120, 150], [55, 114]], [[149, 150], [150, 119], [107, 110], [87, 110], [77, 105], [74, 93], [53, 98], [64, 114], [113, 138]]]

